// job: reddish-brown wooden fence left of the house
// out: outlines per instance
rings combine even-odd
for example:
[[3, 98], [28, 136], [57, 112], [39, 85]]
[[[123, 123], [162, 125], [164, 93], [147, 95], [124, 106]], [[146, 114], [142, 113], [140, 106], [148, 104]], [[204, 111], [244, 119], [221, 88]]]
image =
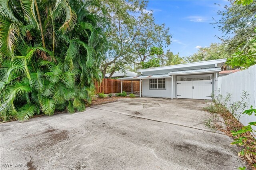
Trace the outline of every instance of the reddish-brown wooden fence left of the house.
[[[102, 79], [101, 83], [97, 81], [94, 83], [95, 93], [105, 94], [109, 93], [120, 93], [121, 92], [121, 80], [116, 79]], [[123, 80], [123, 91], [140, 91], [140, 81], [139, 80]]]

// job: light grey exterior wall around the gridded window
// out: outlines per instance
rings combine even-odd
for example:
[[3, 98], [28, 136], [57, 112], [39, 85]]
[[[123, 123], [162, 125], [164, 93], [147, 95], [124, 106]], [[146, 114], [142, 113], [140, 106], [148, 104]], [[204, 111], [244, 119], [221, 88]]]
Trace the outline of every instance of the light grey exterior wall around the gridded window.
[[[176, 77], [173, 77], [173, 98], [176, 98]], [[166, 89], [149, 89], [149, 79], [142, 79], [143, 97], [172, 97], [172, 78], [166, 78]]]

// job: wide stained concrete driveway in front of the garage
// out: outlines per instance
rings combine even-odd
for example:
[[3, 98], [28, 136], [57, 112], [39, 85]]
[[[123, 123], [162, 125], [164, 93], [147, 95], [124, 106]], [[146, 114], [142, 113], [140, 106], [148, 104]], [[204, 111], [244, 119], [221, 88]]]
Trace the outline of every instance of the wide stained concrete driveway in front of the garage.
[[[136, 98], [0, 124], [0, 166], [16, 169], [236, 170], [238, 148], [204, 127], [204, 101]], [[6, 168], [15, 169], [15, 168]]]

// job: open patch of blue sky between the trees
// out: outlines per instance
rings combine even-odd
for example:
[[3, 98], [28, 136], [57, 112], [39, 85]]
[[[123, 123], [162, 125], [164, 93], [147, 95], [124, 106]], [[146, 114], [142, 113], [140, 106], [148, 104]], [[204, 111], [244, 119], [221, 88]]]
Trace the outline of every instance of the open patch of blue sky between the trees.
[[220, 42], [214, 36], [223, 35], [222, 32], [210, 23], [214, 22], [212, 18], [220, 18], [217, 11], [228, 4], [226, 0], [150, 0], [147, 9], [154, 11], [158, 24], [165, 23], [170, 28], [172, 43], [166, 49], [184, 57], [195, 53], [199, 46]]

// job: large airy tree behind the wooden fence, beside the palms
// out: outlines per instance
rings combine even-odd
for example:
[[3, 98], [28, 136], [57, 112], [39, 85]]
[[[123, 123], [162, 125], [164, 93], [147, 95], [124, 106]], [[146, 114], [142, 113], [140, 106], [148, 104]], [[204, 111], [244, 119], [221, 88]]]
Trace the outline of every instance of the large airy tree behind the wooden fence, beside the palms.
[[[170, 43], [168, 29], [154, 21], [146, 10], [145, 1], [107, 1], [112, 29], [106, 34], [109, 49], [102, 63], [102, 75], [125, 71], [126, 64], [146, 61], [147, 57], [163, 54], [162, 47]], [[161, 54], [160, 54], [161, 53]], [[110, 76], [111, 77], [111, 76]]]

